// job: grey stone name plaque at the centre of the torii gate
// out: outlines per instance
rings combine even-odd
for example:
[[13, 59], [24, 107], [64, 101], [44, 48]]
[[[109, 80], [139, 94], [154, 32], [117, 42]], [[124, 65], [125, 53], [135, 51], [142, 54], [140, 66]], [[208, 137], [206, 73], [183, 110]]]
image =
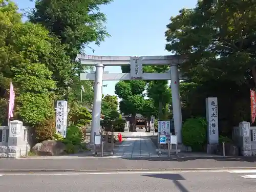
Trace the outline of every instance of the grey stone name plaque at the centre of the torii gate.
[[132, 79], [141, 79], [142, 72], [142, 58], [141, 57], [131, 57], [131, 78]]

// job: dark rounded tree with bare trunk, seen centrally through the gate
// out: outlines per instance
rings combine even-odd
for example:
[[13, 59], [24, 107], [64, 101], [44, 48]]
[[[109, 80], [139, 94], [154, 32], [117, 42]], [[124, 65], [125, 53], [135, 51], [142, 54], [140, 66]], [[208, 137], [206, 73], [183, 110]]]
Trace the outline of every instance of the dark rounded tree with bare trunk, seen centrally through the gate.
[[132, 115], [131, 131], [136, 131], [136, 114], [141, 113], [144, 107], [146, 82], [143, 80], [119, 81], [115, 86], [115, 94], [122, 100], [119, 103], [120, 112]]

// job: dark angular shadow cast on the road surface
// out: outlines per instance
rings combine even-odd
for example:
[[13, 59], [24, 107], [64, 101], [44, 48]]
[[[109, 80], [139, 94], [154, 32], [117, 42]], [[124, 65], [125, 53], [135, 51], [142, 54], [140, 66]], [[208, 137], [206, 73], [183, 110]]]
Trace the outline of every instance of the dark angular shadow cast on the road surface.
[[180, 174], [145, 174], [142, 175], [145, 177], [153, 177], [158, 179], [167, 179], [173, 181], [173, 183], [176, 185], [177, 188], [181, 192], [189, 192], [180, 182], [179, 180], [185, 180], [184, 177], [182, 177]]

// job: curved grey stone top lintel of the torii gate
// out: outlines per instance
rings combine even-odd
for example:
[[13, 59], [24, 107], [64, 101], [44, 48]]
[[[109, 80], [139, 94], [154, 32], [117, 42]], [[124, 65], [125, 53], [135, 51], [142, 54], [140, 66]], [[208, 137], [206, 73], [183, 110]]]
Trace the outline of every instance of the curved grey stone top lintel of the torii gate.
[[82, 65], [94, 66], [101, 63], [104, 66], [127, 66], [131, 59], [140, 58], [142, 65], [177, 65], [185, 60], [183, 55], [162, 56], [97, 56], [78, 54], [77, 58]]

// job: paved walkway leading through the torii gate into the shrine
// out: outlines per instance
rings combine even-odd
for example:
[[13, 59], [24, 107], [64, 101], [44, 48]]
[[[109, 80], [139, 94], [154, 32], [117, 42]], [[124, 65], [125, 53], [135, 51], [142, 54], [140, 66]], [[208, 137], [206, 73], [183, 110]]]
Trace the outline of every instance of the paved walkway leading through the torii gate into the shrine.
[[132, 133], [131, 137], [122, 142], [114, 155], [120, 158], [159, 157], [154, 143], [144, 132]]

